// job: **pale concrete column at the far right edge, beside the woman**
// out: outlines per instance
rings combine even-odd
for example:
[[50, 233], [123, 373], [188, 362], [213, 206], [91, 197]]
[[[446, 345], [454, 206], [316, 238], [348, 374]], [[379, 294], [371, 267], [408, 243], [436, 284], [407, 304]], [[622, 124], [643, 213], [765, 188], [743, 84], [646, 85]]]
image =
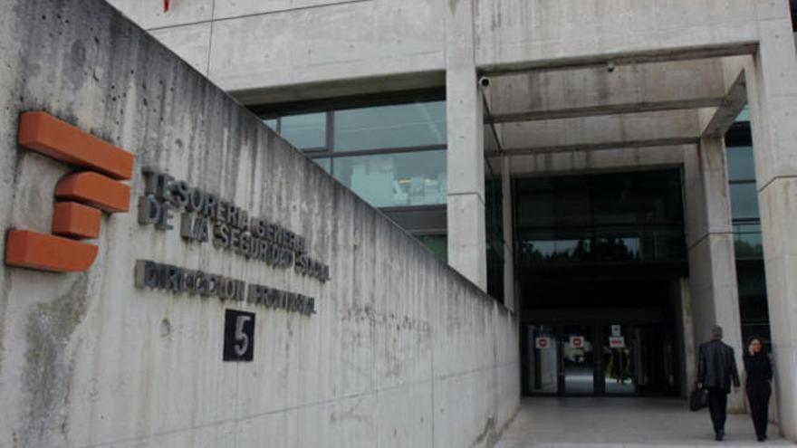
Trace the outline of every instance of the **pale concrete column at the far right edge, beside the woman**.
[[783, 434], [797, 440], [797, 57], [788, 2], [756, 2], [746, 68], [775, 382]]

